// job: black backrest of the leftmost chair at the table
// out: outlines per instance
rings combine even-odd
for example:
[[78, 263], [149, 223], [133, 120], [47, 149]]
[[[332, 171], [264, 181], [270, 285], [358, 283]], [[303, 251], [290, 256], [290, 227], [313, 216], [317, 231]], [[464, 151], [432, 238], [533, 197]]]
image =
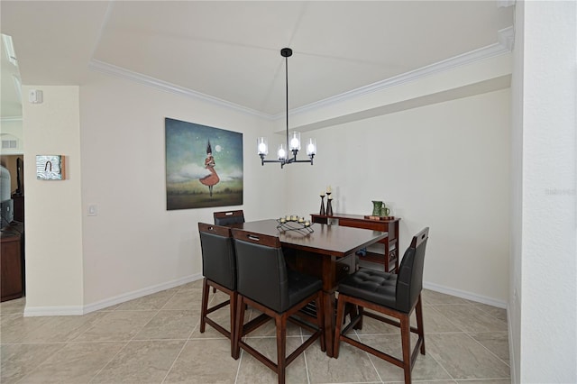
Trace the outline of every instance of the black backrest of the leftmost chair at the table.
[[202, 274], [229, 289], [236, 289], [236, 256], [231, 229], [198, 223], [202, 248]]

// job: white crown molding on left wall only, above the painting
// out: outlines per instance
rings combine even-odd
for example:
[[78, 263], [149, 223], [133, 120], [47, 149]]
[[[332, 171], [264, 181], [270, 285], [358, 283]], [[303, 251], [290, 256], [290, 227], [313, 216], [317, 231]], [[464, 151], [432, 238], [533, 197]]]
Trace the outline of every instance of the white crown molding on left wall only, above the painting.
[[135, 83], [142, 84], [144, 86], [153, 87], [176, 95], [188, 96], [199, 100], [207, 101], [215, 105], [234, 109], [244, 114], [253, 114], [261, 118], [270, 119], [269, 114], [262, 114], [261, 112], [255, 111], [251, 108], [247, 108], [243, 105], [237, 105], [215, 96], [209, 96], [201, 92], [193, 91], [192, 89], [179, 87], [167, 81], [162, 81], [159, 80], [158, 78], [151, 78], [150, 76], [142, 75], [141, 73], [133, 72], [132, 70], [117, 67], [112, 64], [108, 64], [104, 61], [92, 59], [88, 64], [88, 69], [104, 73], [105, 75], [111, 75], [116, 78], [124, 78], [125, 80], [130, 80]]

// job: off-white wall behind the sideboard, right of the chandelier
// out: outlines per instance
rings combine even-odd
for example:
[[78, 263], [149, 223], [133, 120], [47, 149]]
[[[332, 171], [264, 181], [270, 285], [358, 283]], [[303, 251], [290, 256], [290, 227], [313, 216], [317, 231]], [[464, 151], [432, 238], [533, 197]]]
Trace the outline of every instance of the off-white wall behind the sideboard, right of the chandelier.
[[401, 217], [401, 251], [430, 227], [428, 287], [506, 306], [509, 100], [506, 89], [309, 133], [318, 156], [290, 167], [289, 211], [318, 212], [327, 185], [335, 212], [370, 215], [383, 200]]

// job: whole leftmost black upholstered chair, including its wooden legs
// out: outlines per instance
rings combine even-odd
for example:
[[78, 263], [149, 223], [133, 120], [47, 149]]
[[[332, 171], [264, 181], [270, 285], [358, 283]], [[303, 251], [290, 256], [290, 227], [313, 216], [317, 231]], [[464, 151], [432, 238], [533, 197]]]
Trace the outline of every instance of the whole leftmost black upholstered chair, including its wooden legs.
[[[202, 307], [200, 310], [200, 332], [205, 332], [206, 323], [231, 340], [231, 353], [234, 343], [234, 314], [236, 313], [236, 256], [234, 240], [229, 227], [198, 223], [200, 245], [202, 248]], [[229, 296], [229, 299], [215, 306], [208, 307], [210, 287], [218, 289]], [[208, 317], [216, 310], [230, 306], [230, 331]]]

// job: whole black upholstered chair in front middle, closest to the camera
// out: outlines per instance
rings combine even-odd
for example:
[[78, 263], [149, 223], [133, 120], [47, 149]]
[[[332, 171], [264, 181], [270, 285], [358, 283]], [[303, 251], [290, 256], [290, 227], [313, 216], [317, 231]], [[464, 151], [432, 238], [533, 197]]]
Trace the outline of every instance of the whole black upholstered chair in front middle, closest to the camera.
[[[238, 290], [233, 357], [238, 358], [240, 349], [243, 348], [244, 351], [251, 353], [257, 360], [277, 372], [279, 383], [284, 383], [287, 365], [316, 339], [320, 338], [321, 350], [326, 350], [323, 311], [313, 311], [315, 315], [299, 312], [311, 302], [315, 302], [316, 308], [322, 308], [322, 281], [288, 270], [278, 237], [239, 229], [233, 229], [233, 237], [236, 249]], [[247, 305], [261, 311], [262, 315], [243, 324], [244, 310]], [[298, 317], [293, 315], [298, 315]], [[244, 335], [251, 333], [271, 318], [274, 319], [277, 328], [276, 364], [243, 341]], [[311, 332], [307, 341], [289, 356], [286, 355], [288, 321]]]

